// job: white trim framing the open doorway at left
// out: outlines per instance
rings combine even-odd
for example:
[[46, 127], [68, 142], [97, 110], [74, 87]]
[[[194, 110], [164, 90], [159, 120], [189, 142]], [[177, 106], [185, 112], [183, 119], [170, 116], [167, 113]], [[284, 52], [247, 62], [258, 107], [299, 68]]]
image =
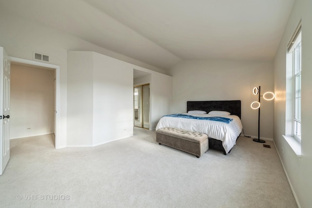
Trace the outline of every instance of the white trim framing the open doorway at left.
[[[25, 64], [30, 64], [30, 65], [35, 65], [35, 66], [42, 66], [42, 67], [48, 67], [48, 68], [53, 68], [56, 70], [56, 95], [55, 95], [55, 106], [56, 106], [56, 115], [55, 115], [55, 148], [64, 148], [65, 146], [60, 146], [60, 136], [59, 136], [59, 130], [60, 130], [60, 112], [61, 105], [60, 105], [60, 66], [50, 64], [50, 63], [43, 63], [39, 61], [34, 61], [34, 60], [28, 60], [28, 59], [23, 59], [23, 58], [17, 58], [17, 57], [10, 57], [11, 61], [13, 62], [18, 62], [18, 63], [25, 63]], [[64, 137], [63, 139], [66, 139]], [[66, 142], [62, 142], [65, 143]]]

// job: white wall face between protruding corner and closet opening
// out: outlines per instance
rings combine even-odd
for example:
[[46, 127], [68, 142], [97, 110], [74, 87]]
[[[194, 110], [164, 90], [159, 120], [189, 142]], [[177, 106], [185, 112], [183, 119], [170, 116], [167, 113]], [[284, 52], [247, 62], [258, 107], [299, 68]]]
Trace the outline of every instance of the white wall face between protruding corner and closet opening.
[[133, 65], [93, 53], [93, 144], [133, 135]]

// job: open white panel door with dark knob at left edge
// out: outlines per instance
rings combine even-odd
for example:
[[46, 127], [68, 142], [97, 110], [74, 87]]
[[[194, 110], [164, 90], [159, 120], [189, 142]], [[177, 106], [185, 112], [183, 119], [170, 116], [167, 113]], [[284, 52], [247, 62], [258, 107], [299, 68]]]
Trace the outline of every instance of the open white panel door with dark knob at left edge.
[[10, 159], [10, 69], [10, 59], [0, 47], [0, 175]]

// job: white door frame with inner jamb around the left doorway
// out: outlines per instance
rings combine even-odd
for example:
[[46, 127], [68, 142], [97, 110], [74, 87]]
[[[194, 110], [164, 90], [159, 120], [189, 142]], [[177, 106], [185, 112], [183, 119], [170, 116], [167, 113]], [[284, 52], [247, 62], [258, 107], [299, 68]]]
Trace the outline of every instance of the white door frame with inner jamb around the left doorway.
[[16, 64], [16, 65], [24, 65], [24, 66], [29, 66], [29, 67], [34, 67], [34, 68], [40, 68], [40, 69], [49, 69], [54, 71], [54, 80], [52, 80], [54, 83], [52, 85], [52, 89], [54, 92], [53, 93], [53, 103], [51, 104], [53, 106], [54, 112], [53, 118], [51, 117], [52, 123], [53, 123], [53, 134], [54, 134], [54, 146], [56, 149], [61, 148], [61, 141], [59, 141], [59, 113], [58, 110], [60, 109], [59, 107], [59, 69], [60, 67], [57, 65], [49, 64], [49, 63], [43, 63], [39, 61], [33, 61], [33, 60], [27, 60], [27, 59], [22, 59], [22, 58], [16, 58], [16, 57], [10, 57], [11, 58], [11, 63]]

